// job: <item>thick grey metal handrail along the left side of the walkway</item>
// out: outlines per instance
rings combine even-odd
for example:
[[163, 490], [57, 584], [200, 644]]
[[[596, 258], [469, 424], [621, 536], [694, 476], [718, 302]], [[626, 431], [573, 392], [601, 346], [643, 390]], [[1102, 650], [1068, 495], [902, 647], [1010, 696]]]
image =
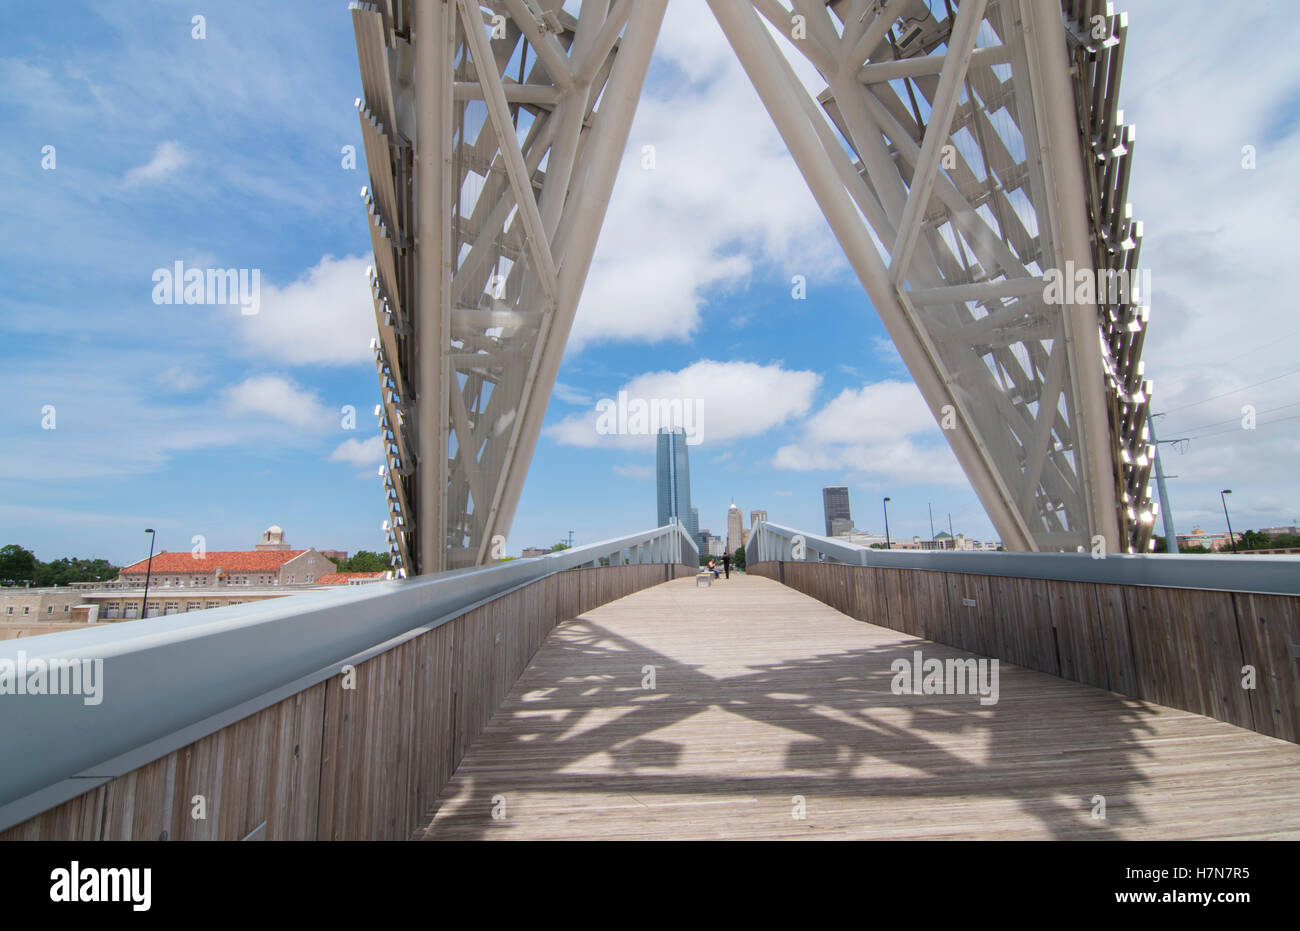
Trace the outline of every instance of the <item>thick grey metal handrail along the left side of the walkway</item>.
[[685, 527], [543, 557], [0, 641], [0, 672], [101, 661], [103, 697], [0, 694], [0, 830], [556, 572], [699, 563]]

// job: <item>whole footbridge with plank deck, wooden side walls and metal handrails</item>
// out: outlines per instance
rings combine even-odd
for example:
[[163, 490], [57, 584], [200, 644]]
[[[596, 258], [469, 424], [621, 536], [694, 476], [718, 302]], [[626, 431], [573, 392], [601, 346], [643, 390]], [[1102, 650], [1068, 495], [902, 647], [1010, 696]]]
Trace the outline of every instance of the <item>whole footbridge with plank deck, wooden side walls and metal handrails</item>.
[[[1294, 559], [751, 549], [9, 641], [105, 672], [0, 697], [0, 837], [1300, 837]], [[918, 653], [997, 658], [996, 702], [900, 688]]]

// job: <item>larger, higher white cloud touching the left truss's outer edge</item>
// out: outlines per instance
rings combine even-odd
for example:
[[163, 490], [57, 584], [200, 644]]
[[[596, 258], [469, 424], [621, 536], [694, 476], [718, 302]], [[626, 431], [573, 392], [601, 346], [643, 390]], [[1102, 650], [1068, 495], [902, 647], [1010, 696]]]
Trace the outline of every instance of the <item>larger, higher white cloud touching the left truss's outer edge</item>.
[[263, 280], [261, 309], [228, 312], [247, 350], [290, 365], [351, 365], [370, 359], [374, 304], [365, 278], [369, 257], [324, 256], [298, 281]]

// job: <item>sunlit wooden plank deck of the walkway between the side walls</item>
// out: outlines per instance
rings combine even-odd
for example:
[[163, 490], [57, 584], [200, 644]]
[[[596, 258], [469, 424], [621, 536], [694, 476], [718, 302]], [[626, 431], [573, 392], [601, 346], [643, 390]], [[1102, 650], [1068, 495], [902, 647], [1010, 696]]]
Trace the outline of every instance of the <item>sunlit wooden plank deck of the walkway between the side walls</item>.
[[1295, 744], [1006, 663], [992, 706], [893, 694], [916, 649], [972, 655], [767, 579], [611, 602], [550, 635], [416, 837], [1300, 837]]

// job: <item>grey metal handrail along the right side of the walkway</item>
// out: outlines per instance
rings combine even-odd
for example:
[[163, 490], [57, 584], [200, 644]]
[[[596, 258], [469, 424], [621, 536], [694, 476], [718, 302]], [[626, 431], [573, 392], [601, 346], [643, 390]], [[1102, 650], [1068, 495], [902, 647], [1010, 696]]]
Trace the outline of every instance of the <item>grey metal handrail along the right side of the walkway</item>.
[[[798, 541], [796, 538], [800, 538]], [[750, 531], [748, 563], [832, 562], [896, 570], [1052, 579], [1112, 585], [1300, 594], [1300, 557], [1149, 555], [1091, 553], [988, 553], [959, 550], [874, 550], [842, 540], [760, 521]], [[753, 547], [753, 553], [750, 551]]]

